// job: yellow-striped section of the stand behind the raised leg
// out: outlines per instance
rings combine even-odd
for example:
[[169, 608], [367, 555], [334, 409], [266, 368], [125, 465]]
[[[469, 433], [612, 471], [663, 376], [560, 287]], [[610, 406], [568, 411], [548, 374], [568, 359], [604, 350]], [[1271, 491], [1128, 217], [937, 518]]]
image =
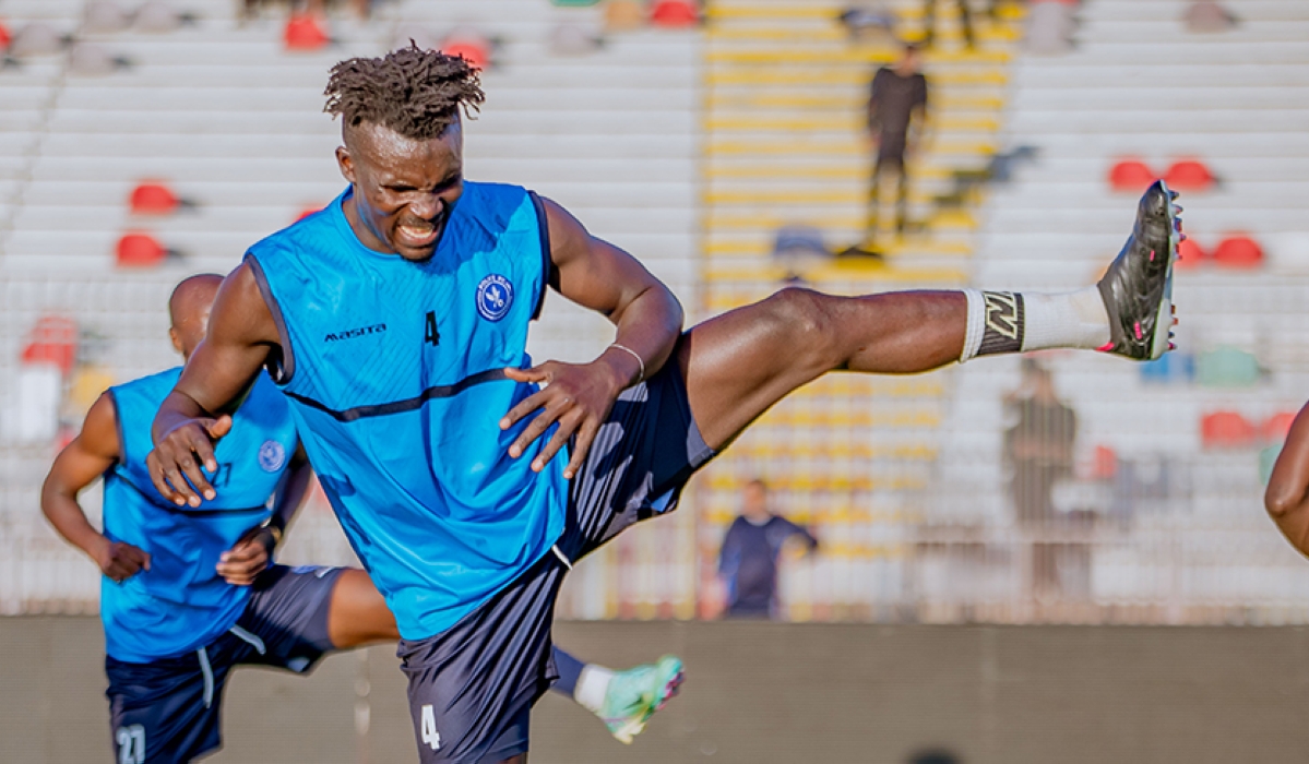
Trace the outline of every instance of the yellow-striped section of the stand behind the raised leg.
[[[891, 5], [902, 34], [920, 38], [920, 4]], [[910, 218], [919, 222], [888, 242], [885, 262], [770, 256], [795, 232], [840, 242], [836, 249], [863, 238], [868, 85], [898, 50], [885, 35], [852, 35], [843, 10], [783, 0], [708, 8], [703, 273], [713, 313], [767, 296], [787, 277], [846, 294], [965, 279], [982, 194], [971, 190], [952, 208], [935, 198], [994, 153], [1013, 14], [983, 25], [975, 51], [962, 50], [953, 14], [941, 20], [925, 65], [932, 137], [910, 173]], [[833, 377], [779, 404], [702, 479], [704, 553], [716, 557], [740, 487], [759, 476], [772, 484], [776, 509], [810, 525], [823, 544], [821, 555], [783, 570], [788, 616], [898, 617], [905, 544], [923, 512], [944, 390], [940, 378]], [[713, 572], [703, 573], [708, 587]]]

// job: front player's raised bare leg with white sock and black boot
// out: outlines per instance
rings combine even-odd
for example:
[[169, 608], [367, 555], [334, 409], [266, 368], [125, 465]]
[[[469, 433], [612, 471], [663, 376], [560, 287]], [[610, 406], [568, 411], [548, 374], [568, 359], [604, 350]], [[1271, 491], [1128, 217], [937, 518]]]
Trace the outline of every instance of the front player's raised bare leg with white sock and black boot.
[[912, 374], [979, 355], [1045, 348], [1157, 358], [1169, 349], [1175, 194], [1141, 198], [1127, 245], [1097, 286], [1068, 294], [784, 289], [707, 321], [678, 351], [691, 413], [719, 450], [754, 419], [833, 370]]

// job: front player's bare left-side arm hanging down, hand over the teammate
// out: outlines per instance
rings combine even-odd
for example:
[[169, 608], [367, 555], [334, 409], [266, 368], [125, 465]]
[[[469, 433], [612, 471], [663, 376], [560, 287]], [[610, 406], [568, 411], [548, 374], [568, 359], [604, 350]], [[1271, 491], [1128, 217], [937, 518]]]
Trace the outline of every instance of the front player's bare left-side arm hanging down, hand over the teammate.
[[217, 496], [200, 466], [217, 470], [213, 442], [232, 429], [225, 412], [241, 400], [278, 343], [254, 271], [242, 263], [219, 288], [204, 341], [154, 417], [154, 450], [147, 463], [165, 498], [200, 506], [202, 495]]

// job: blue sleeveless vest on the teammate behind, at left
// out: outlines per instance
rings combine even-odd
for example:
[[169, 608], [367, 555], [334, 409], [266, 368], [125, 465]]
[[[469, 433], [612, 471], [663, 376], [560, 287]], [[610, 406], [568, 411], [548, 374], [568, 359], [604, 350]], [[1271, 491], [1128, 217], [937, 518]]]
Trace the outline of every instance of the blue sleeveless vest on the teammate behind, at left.
[[182, 369], [110, 389], [120, 459], [105, 474], [105, 535], [140, 547], [151, 569], [123, 583], [101, 580], [99, 614], [110, 655], [131, 663], [179, 655], [232, 628], [250, 598], [215, 572], [219, 555], [268, 518], [268, 498], [296, 451], [291, 411], [260, 374], [219, 441], [217, 497], [198, 509], [160, 496], [145, 468], [151, 425]]

